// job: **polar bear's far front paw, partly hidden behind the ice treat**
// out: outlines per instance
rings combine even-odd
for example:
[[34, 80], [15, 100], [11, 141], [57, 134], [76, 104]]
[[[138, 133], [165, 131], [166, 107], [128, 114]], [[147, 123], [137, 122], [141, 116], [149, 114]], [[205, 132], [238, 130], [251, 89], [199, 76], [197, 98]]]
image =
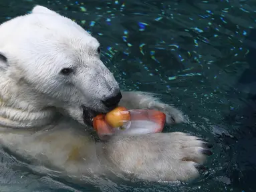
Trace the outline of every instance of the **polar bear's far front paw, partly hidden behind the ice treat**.
[[122, 91], [120, 105], [128, 109], [156, 109], [166, 114], [166, 123], [182, 123], [184, 115], [175, 107], [162, 103], [153, 93]]

